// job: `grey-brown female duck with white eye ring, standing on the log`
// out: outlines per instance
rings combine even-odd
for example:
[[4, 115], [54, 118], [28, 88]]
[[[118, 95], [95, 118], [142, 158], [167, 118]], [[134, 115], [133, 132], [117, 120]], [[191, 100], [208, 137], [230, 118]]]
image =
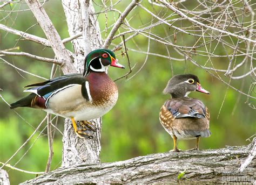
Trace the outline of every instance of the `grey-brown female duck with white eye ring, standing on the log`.
[[179, 152], [177, 139], [197, 139], [197, 145], [191, 150], [199, 150], [199, 138], [210, 137], [210, 113], [199, 99], [187, 97], [192, 91], [210, 94], [201, 87], [196, 75], [184, 74], [173, 76], [164, 89], [164, 94], [171, 94], [161, 107], [159, 119], [161, 125], [173, 138], [173, 151]]

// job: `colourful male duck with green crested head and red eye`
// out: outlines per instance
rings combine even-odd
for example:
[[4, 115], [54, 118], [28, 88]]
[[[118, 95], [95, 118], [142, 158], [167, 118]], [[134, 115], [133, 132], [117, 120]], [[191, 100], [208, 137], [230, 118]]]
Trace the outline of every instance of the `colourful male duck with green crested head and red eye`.
[[[105, 73], [108, 66], [124, 68], [109, 49], [97, 49], [85, 58], [83, 74], [68, 74], [42, 83], [31, 84], [24, 90], [31, 94], [11, 104], [11, 109], [20, 106], [43, 109], [72, 120], [79, 138], [92, 137], [85, 132], [96, 127], [84, 120], [102, 117], [117, 102], [116, 84]], [[78, 130], [76, 121], [81, 121], [84, 129]]]

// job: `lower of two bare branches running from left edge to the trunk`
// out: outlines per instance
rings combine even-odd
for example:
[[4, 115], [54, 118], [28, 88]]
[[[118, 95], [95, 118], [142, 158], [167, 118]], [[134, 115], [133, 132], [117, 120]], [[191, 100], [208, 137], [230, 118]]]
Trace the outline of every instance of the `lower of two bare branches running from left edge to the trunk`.
[[50, 58], [45, 58], [42, 56], [37, 56], [37, 55], [32, 55], [30, 53], [25, 53], [25, 52], [5, 52], [5, 51], [0, 51], [0, 56], [3, 55], [11, 55], [11, 56], [26, 56], [31, 59], [43, 61], [43, 62], [48, 62], [48, 63], [56, 63], [57, 65], [62, 65], [62, 62], [55, 60], [55, 59], [50, 59]]

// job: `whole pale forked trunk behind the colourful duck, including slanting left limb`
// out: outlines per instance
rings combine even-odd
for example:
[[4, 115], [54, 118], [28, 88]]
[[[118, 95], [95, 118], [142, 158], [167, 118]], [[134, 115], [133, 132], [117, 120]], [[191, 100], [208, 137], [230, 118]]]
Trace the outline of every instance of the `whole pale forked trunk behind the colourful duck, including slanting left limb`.
[[[98, 21], [90, 0], [62, 0], [70, 36], [83, 35], [82, 38], [72, 40], [74, 53], [66, 50], [58, 32], [38, 0], [26, 0], [29, 8], [42, 27], [50, 46], [58, 61], [62, 62], [64, 74], [83, 73], [85, 55], [93, 49], [102, 46]], [[72, 56], [71, 56], [72, 55]], [[80, 139], [73, 131], [71, 120], [65, 120], [63, 136], [62, 166], [68, 167], [78, 163], [99, 162], [101, 118], [90, 120], [97, 127], [93, 139]]]

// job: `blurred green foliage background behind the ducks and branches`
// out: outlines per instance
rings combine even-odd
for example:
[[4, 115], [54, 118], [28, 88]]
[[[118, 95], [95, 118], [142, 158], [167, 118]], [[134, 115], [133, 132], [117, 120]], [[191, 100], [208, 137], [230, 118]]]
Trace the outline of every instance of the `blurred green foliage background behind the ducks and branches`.
[[[100, 3], [101, 1], [96, 2]], [[128, 1], [122, 1], [116, 8], [123, 11], [127, 4], [129, 4]], [[152, 6], [150, 3], [146, 3], [146, 1], [142, 4], [152, 11], [163, 13], [163, 15], [167, 13], [168, 15], [168, 11], [161, 12], [161, 8]], [[193, 4], [187, 5], [187, 7], [190, 6], [192, 7]], [[5, 6], [3, 11], [0, 11], [1, 24], [45, 38], [41, 27], [36, 24], [31, 11], [9, 12], [9, 10], [24, 10], [27, 8], [24, 3]], [[46, 2], [44, 8], [61, 38], [69, 37], [61, 2]], [[100, 6], [96, 5], [95, 8], [96, 12], [101, 10]], [[110, 26], [113, 24], [117, 17], [117, 13], [107, 13], [107, 25]], [[98, 20], [100, 29], [104, 30], [106, 16], [100, 14], [98, 15]], [[142, 9], [135, 9], [129, 16], [129, 20], [133, 27], [139, 27], [140, 25], [150, 23], [152, 17]], [[186, 24], [188, 24], [185, 21], [182, 23], [183, 25], [177, 26], [186, 27]], [[166, 31], [174, 32], [173, 29], [164, 26], [154, 27], [153, 31], [157, 32], [158, 35], [164, 34]], [[18, 35], [2, 30], [0, 33], [0, 50], [15, 47], [16, 50], [14, 51], [16, 52], [23, 51], [38, 56], [54, 58], [51, 48], [23, 40]], [[103, 31], [103, 39], [105, 35], [105, 31]], [[177, 45], [186, 46], [192, 45], [195, 42], [193, 38], [186, 38], [182, 33], [178, 33], [176, 37]], [[172, 34], [170, 40], [174, 42], [174, 39]], [[113, 48], [114, 45], [120, 42], [120, 38], [113, 40], [113, 45], [110, 48]], [[170, 61], [166, 57], [153, 54], [148, 55], [146, 60], [146, 54], [140, 51], [146, 52], [148, 44], [149, 39], [140, 34], [126, 42], [128, 48], [133, 48], [129, 49], [128, 54], [131, 66], [134, 66], [134, 68], [128, 78], [123, 78], [116, 82], [119, 89], [118, 102], [103, 117], [102, 151], [100, 153], [102, 162], [126, 160], [140, 155], [172, 150], [172, 138], [160, 125], [158, 118], [161, 105], [163, 105], [166, 99], [170, 98], [169, 95], [163, 95], [162, 91], [167, 81], [172, 77], [172, 70], [173, 74], [192, 73], [197, 75], [201, 85], [211, 93], [211, 95], [198, 92], [190, 94], [190, 97], [201, 99], [211, 113], [210, 130], [212, 135], [210, 138], [200, 140], [199, 147], [201, 150], [220, 148], [225, 145], [240, 146], [250, 143], [246, 139], [255, 134], [256, 119], [254, 115], [255, 110], [248, 106], [246, 96], [241, 95], [232, 88], [228, 88], [226, 84], [207, 73], [206, 70], [193, 65], [190, 61], [184, 60], [184, 58], [180, 58], [180, 55], [174, 52], [171, 47], [168, 47], [170, 55], [180, 60]], [[70, 51], [73, 51], [71, 42], [65, 46]], [[205, 50], [204, 47], [200, 49], [201, 51]], [[124, 53], [124, 49], [117, 51], [116, 55], [119, 62], [126, 66], [126, 69], [110, 68], [109, 76], [113, 80], [129, 72], [127, 58], [122, 55], [122, 52]], [[153, 40], [150, 41], [150, 52], [168, 56], [166, 46], [160, 45]], [[215, 49], [215, 54], [217, 55], [226, 55], [226, 52], [232, 53], [233, 50], [228, 48], [225, 51], [221, 47]], [[201, 65], [204, 65], [208, 56], [197, 55], [195, 53], [193, 58], [198, 62], [201, 61]], [[19, 108], [15, 111], [9, 109], [8, 103], [13, 103], [26, 95], [26, 93], [23, 93], [24, 86], [43, 81], [39, 77], [23, 73], [10, 65], [14, 65], [46, 79], [50, 77], [52, 65], [50, 63], [31, 60], [23, 56], [1, 56], [1, 59], [5, 61], [0, 60], [0, 88], [2, 89], [0, 90], [2, 95], [2, 99], [0, 99], [0, 162], [6, 162], [31, 136], [31, 133], [35, 131], [35, 127], [37, 127], [46, 115], [44, 111], [29, 108]], [[132, 75], [138, 72], [144, 62], [145, 66], [142, 70], [130, 79]], [[227, 58], [214, 57], [211, 62], [218, 69], [227, 69]], [[243, 70], [244, 68], [239, 69], [237, 73], [242, 73]], [[225, 77], [224, 73], [218, 74], [225, 82], [229, 82], [230, 78]], [[61, 72], [56, 76], [58, 75], [61, 75]], [[232, 80], [230, 84], [248, 93], [251, 82], [253, 82], [253, 79], [248, 75], [240, 80]], [[255, 96], [255, 91], [252, 91], [251, 95]], [[254, 105], [256, 103], [253, 99], [250, 99], [249, 102]], [[57, 127], [60, 131], [63, 131], [63, 123], [64, 119], [58, 118]], [[49, 152], [48, 138], [46, 136], [47, 130], [44, 129], [45, 126], [46, 123], [39, 129], [40, 132], [42, 131], [42, 134], [39, 135], [39, 132], [36, 133], [29, 143], [9, 162], [10, 165], [33, 172], [44, 172]], [[188, 150], [194, 147], [195, 144], [196, 140], [186, 140], [179, 141], [178, 146], [181, 150]], [[51, 170], [60, 167], [62, 160], [62, 136], [57, 131], [53, 141], [53, 151]], [[4, 169], [7, 170], [12, 184], [17, 184], [35, 177], [35, 175], [18, 172], [8, 167], [4, 167]]]

